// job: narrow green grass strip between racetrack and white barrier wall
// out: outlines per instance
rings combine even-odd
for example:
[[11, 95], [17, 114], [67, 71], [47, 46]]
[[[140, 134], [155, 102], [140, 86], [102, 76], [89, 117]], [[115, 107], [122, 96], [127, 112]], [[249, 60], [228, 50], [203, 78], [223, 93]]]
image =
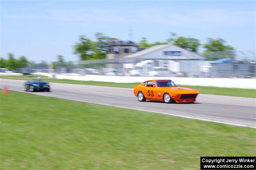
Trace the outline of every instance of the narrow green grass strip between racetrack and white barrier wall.
[[[23, 76], [0, 76], [2, 79], [17, 79], [26, 80], [27, 75]], [[139, 83], [113, 83], [113, 82], [95, 82], [95, 81], [79, 81], [69, 79], [51, 79], [46, 76], [42, 76], [42, 79], [52, 83], [67, 83], [78, 85], [96, 85], [96, 86], [108, 86], [108, 87], [121, 87], [121, 88], [133, 88], [134, 85]], [[179, 85], [180, 87], [194, 88], [199, 91], [200, 94], [214, 94], [223, 96], [235, 96], [235, 97], [251, 97], [256, 98], [256, 89], [242, 89], [242, 88], [220, 88], [209, 86], [191, 86], [191, 85]]]

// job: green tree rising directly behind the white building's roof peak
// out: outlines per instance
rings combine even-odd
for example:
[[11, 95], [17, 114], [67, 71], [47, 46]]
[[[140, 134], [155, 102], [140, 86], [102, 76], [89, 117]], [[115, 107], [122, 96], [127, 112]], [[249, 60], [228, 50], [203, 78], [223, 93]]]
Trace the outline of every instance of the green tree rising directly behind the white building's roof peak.
[[187, 50], [197, 52], [200, 46], [199, 40], [195, 38], [177, 37], [177, 34], [170, 32], [171, 36], [167, 39], [167, 42], [172, 43], [176, 46], [180, 46]]

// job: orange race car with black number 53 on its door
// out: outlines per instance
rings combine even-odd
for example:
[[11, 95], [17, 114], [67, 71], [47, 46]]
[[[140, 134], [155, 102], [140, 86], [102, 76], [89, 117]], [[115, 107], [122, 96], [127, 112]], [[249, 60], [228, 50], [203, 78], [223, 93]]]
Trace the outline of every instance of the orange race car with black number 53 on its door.
[[155, 100], [165, 103], [193, 103], [199, 94], [195, 89], [178, 87], [172, 80], [148, 80], [134, 86], [133, 92], [140, 102]]

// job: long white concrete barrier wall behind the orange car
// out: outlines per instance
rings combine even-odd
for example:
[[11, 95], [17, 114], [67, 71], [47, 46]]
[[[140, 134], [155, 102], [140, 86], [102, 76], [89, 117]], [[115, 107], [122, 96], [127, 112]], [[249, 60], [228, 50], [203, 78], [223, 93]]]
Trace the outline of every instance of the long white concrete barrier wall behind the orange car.
[[256, 88], [256, 79], [187, 78], [187, 77], [130, 77], [130, 76], [97, 76], [97, 75], [85, 75], [85, 76], [54, 75], [54, 76], [57, 79], [115, 82], [115, 83], [135, 83], [135, 82], [144, 82], [146, 80], [151, 80], [151, 79], [171, 79], [178, 85], [199, 85], [199, 86], [247, 88], [247, 89], [255, 89]]

